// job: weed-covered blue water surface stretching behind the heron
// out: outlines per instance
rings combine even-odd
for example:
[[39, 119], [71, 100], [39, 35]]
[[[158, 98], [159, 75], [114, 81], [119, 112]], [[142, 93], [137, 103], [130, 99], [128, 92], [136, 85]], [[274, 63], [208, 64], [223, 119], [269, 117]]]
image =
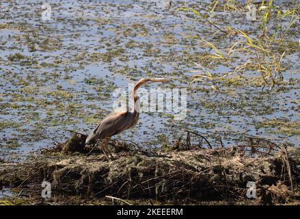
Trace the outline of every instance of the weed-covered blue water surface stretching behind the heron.
[[[197, 53], [209, 51], [189, 36], [219, 43], [221, 49], [229, 42], [216, 38], [209, 25], [191, 26], [191, 13], [176, 10], [183, 2], [172, 1], [170, 7], [164, 1], [48, 2], [51, 21], [42, 21], [43, 10], [36, 1], [0, 3], [2, 159], [18, 159], [52, 146], [53, 138], [62, 142], [70, 136], [67, 129], [88, 133], [111, 112], [115, 88], [127, 89], [128, 83], [152, 76], [172, 78], [171, 86], [155, 88], [188, 88], [187, 117], [174, 120], [165, 113], [143, 113], [136, 127], [115, 138], [155, 148], [176, 141], [180, 130], [193, 129], [218, 146], [217, 136], [226, 146], [243, 136], [299, 146], [299, 127], [290, 133], [278, 125], [263, 125], [273, 119], [300, 122], [299, 83], [285, 86], [288, 89], [224, 86], [221, 92], [203, 83], [189, 84], [195, 74], [191, 70], [200, 70], [194, 64]], [[205, 12], [207, 3], [194, 5]], [[216, 11], [215, 17], [247, 30], [259, 24], [245, 21], [245, 12]], [[296, 34], [290, 40], [297, 41], [299, 32], [293, 28]], [[10, 60], [15, 53], [23, 59]], [[286, 81], [300, 77], [299, 54], [298, 48], [284, 57]], [[249, 58], [240, 55], [241, 60]], [[211, 73], [228, 70], [223, 64], [210, 65]]]

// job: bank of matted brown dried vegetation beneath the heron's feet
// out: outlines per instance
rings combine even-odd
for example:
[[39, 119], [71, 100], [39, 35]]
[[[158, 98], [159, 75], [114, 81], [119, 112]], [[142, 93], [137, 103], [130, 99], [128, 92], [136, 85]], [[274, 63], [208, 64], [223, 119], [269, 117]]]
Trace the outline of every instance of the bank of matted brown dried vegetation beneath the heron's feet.
[[[27, 162], [1, 164], [0, 185], [38, 198], [42, 181], [49, 181], [55, 198], [247, 200], [265, 205], [297, 200], [299, 149], [276, 146], [263, 152], [264, 146], [254, 150], [255, 143], [229, 149], [191, 146], [188, 151], [177, 145], [177, 149], [156, 152], [119, 147], [111, 162], [97, 149], [66, 155], [62, 146], [56, 146]], [[247, 198], [249, 181], [256, 184], [256, 198]]]

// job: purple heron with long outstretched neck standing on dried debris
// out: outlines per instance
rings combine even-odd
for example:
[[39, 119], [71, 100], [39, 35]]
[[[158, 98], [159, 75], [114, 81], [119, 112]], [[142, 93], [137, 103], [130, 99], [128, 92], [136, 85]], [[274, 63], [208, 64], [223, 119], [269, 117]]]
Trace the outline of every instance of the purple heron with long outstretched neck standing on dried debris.
[[[139, 119], [139, 96], [137, 96], [136, 92], [137, 89], [143, 85], [144, 83], [152, 83], [152, 82], [166, 82], [169, 81], [169, 79], [165, 78], [142, 78], [135, 83], [135, 86], [133, 88], [133, 91], [131, 92], [131, 96], [133, 98], [134, 107], [133, 110], [131, 110], [131, 107], [128, 107], [126, 110], [116, 110], [115, 112], [109, 114], [106, 118], [104, 118], [90, 133], [89, 136], [87, 136], [87, 139], [85, 140], [85, 144], [89, 144], [91, 142], [96, 141], [96, 144], [98, 144], [99, 140], [102, 140], [100, 144], [100, 149], [102, 149], [103, 153], [107, 157], [107, 159], [113, 159], [113, 155], [111, 154], [111, 151], [107, 148], [107, 144], [111, 138], [111, 136], [114, 136], [126, 129], [130, 129], [133, 127], [137, 120]], [[109, 156], [107, 155], [109, 154]]]

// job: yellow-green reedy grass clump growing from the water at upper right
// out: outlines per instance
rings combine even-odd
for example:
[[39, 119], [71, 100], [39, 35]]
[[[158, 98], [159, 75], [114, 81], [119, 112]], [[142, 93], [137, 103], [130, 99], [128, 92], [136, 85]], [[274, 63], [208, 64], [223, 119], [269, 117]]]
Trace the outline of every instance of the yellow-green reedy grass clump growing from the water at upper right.
[[[251, 30], [216, 24], [213, 21], [215, 16], [210, 16], [215, 10], [242, 10], [242, 8], [247, 10], [250, 3], [251, 1], [242, 7], [237, 1], [213, 1], [208, 5], [206, 13], [200, 13], [186, 4], [179, 9], [195, 14], [194, 22], [212, 25], [217, 31], [217, 39], [223, 39], [221, 43], [219, 40], [213, 40], [214, 38], [204, 40], [200, 36], [196, 37], [202, 42], [204, 48], [213, 52], [204, 53], [197, 62], [194, 62], [197, 68], [201, 69], [193, 75], [192, 83], [206, 83], [213, 90], [219, 90], [216, 83], [225, 86], [232, 83], [242, 86], [245, 84], [273, 86], [289, 83], [284, 80], [283, 73], [288, 65], [283, 62], [286, 55], [297, 51], [298, 46], [294, 43], [294, 39], [299, 36], [299, 32], [296, 31], [296, 26], [299, 25], [299, 7], [292, 5], [292, 8], [282, 10], [278, 5], [274, 5], [273, 1], [262, 1], [256, 4], [257, 16], [261, 17], [261, 22], [253, 23], [259, 25], [257, 29], [251, 28]], [[288, 44], [293, 46], [287, 46]], [[210, 65], [228, 66], [231, 71], [215, 76], [210, 73]]]

